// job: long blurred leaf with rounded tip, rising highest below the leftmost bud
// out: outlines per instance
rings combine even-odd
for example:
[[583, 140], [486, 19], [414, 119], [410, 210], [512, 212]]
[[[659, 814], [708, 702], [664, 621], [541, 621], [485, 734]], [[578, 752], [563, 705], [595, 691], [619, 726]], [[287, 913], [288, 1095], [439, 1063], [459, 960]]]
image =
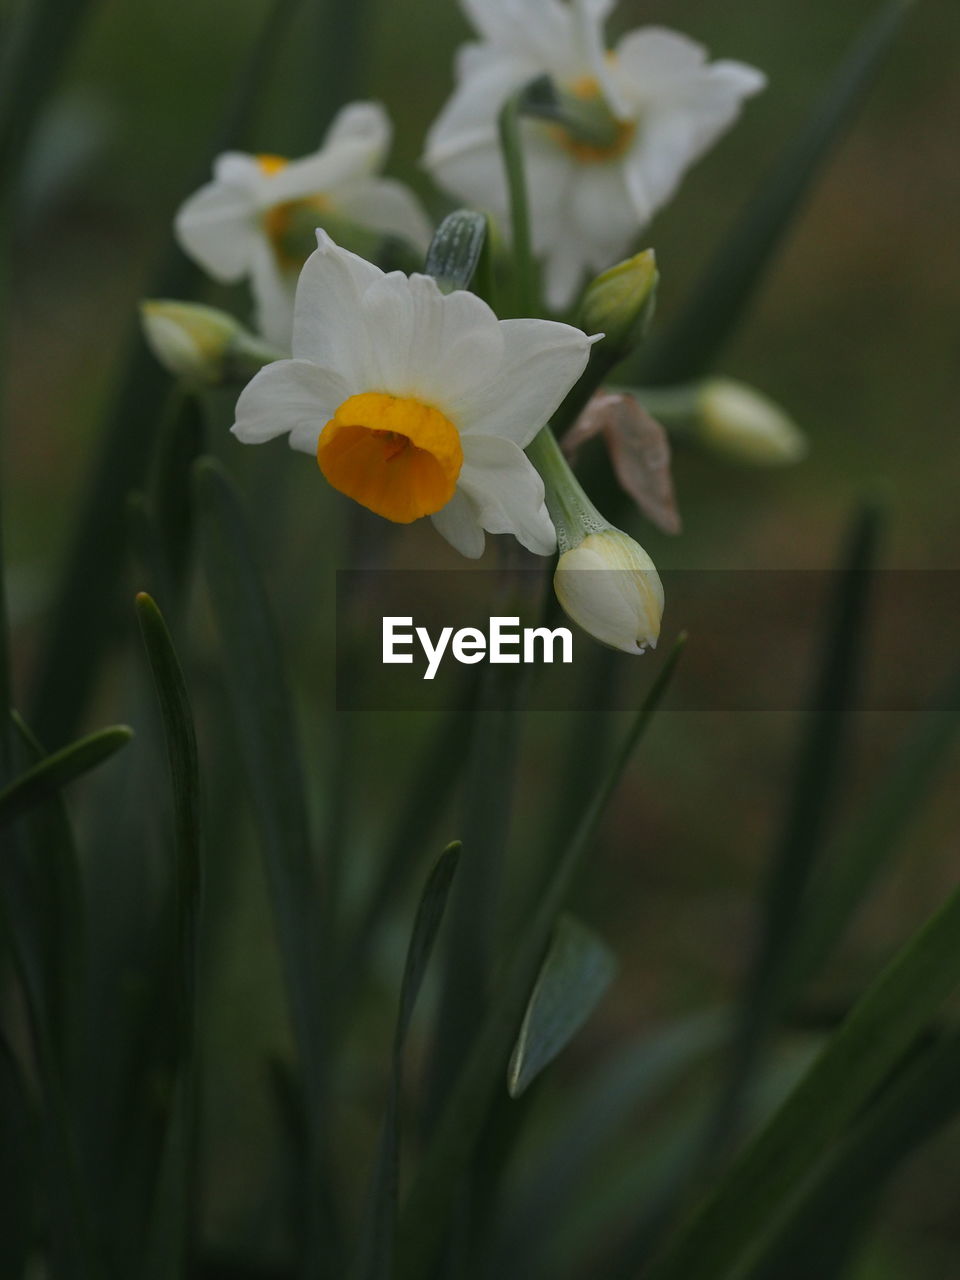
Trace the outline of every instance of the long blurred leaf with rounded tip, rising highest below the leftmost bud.
[[[329, 1083], [329, 1019], [319, 869], [307, 820], [298, 735], [285, 666], [243, 508], [223, 467], [195, 467], [200, 558], [220, 634], [220, 657], [257, 824], [293, 1036], [303, 1073], [311, 1210], [320, 1213]], [[333, 1221], [310, 1219], [311, 1248], [334, 1247]]]

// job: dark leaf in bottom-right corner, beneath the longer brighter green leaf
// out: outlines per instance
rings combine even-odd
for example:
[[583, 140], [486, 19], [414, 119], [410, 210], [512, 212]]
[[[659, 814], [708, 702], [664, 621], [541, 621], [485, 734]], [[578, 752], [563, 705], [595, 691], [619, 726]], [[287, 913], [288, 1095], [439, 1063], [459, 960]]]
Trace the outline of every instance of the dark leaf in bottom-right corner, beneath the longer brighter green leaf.
[[772, 1224], [748, 1280], [840, 1280], [850, 1249], [902, 1162], [960, 1110], [960, 1034], [925, 1046]]

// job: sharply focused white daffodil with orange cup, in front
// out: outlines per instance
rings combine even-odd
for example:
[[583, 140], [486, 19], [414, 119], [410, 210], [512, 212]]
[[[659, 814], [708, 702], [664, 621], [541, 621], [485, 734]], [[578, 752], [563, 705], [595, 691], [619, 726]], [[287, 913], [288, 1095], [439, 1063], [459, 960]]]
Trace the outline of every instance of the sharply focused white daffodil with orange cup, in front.
[[524, 449], [582, 374], [591, 339], [550, 320], [498, 320], [472, 293], [384, 274], [316, 238], [293, 358], [244, 388], [234, 435], [289, 435], [340, 493], [398, 524], [430, 516], [463, 556], [483, 553], [484, 530], [550, 554], [543, 480]]

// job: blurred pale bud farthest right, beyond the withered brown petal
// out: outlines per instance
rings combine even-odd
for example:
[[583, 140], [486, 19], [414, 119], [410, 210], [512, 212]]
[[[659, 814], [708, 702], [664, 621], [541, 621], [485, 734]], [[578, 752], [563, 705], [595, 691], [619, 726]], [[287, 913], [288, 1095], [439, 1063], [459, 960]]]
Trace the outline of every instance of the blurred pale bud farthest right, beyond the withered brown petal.
[[699, 388], [696, 439], [755, 466], [785, 466], [806, 453], [806, 439], [783, 410], [746, 383], [710, 378]]

